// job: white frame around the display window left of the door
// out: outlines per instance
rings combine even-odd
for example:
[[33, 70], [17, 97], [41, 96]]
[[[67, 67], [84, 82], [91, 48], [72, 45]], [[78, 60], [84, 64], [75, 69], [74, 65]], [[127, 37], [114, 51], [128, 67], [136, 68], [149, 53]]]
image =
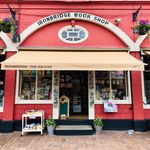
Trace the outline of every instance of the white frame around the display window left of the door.
[[15, 104], [53, 104], [53, 83], [54, 83], [54, 78], [53, 78], [53, 71], [52, 71], [52, 98], [51, 100], [21, 100], [18, 99], [18, 94], [19, 94], [19, 71], [17, 71], [16, 75], [16, 94], [15, 94]]

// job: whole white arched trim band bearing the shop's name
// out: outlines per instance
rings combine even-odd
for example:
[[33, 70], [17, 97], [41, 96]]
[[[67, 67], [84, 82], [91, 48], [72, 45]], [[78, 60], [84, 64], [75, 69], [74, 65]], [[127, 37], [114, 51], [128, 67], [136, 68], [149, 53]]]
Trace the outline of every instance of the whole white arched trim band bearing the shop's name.
[[[75, 13], [87, 14], [87, 15], [90, 16], [90, 19], [89, 18], [83, 18], [83, 17], [75, 16], [74, 15]], [[39, 25], [38, 22], [40, 22], [42, 20], [46, 20], [46, 18], [53, 17], [54, 15], [57, 16], [57, 15], [59, 15], [59, 13], [58, 14], [54, 14], [54, 15], [50, 15], [50, 16], [47, 16], [47, 17], [44, 17], [44, 18], [34, 22], [32, 25], [30, 25], [28, 28], [26, 28], [20, 34], [21, 41], [20, 41], [20, 43], [17, 44], [17, 46], [19, 47], [21, 45], [21, 43], [27, 37], [29, 37], [32, 33], [34, 33], [38, 29], [40, 29], [40, 28], [42, 28], [42, 27], [44, 27], [44, 26], [46, 26], [48, 24], [51, 24], [51, 23], [54, 23], [54, 22], [58, 22], [58, 21], [63, 21], [63, 20], [76, 19], [76, 20], [84, 20], [84, 21], [92, 22], [92, 23], [95, 23], [95, 24], [97, 24], [99, 26], [102, 26], [102, 27], [108, 29], [109, 31], [113, 32], [116, 36], [118, 36], [130, 48], [130, 50], [134, 50], [134, 51], [139, 51], [140, 50], [139, 46], [137, 44], [135, 44], [131, 40], [131, 38], [123, 30], [121, 30], [116, 25], [112, 24], [111, 22], [107, 21], [106, 19], [101, 18], [100, 16], [92, 15], [92, 14], [89, 14], [89, 13], [82, 13], [82, 12], [65, 12], [65, 13], [60, 13], [60, 14], [62, 14], [62, 15], [69, 14], [69, 15], [67, 17], [65, 17], [65, 18], [62, 17], [62, 18], [49, 20], [46, 23], [43, 23], [41, 25]], [[97, 21], [95, 18], [99, 18], [101, 21]], [[102, 21], [104, 21], [104, 23], [102, 23]]]

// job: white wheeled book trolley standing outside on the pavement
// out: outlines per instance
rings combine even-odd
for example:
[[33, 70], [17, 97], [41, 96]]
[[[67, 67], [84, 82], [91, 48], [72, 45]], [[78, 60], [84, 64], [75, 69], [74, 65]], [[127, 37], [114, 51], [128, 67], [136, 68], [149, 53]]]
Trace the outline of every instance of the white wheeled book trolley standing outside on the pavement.
[[[40, 118], [40, 123], [35, 123], [37, 118]], [[29, 120], [35, 120], [34, 123], [29, 123]], [[44, 129], [44, 111], [43, 110], [29, 110], [22, 114], [22, 133], [25, 132], [41, 132], [43, 135]]]

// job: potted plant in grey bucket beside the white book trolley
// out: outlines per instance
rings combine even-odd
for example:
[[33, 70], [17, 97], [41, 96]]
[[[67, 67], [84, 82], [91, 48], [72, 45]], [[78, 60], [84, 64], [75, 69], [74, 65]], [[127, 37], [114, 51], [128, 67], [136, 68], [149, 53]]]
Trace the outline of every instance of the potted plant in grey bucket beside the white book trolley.
[[48, 135], [54, 134], [54, 128], [56, 126], [55, 120], [52, 118], [46, 119], [45, 124], [47, 125]]

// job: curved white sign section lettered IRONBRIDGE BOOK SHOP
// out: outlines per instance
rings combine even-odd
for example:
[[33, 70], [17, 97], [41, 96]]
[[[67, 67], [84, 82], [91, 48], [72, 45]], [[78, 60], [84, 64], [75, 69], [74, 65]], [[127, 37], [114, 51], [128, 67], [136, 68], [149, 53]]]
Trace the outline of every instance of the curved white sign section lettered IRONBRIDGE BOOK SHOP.
[[42, 26], [44, 24], [48, 24], [50, 22], [55, 22], [58, 20], [66, 20], [66, 19], [83, 19], [83, 20], [88, 20], [91, 22], [97, 22], [100, 23], [103, 26], [107, 26], [109, 22], [101, 17], [94, 16], [91, 14], [87, 13], [79, 13], [79, 12], [67, 12], [67, 13], [60, 13], [60, 14], [54, 14], [50, 15], [48, 17], [45, 17], [39, 21], [37, 21], [37, 24], [39, 26]]

